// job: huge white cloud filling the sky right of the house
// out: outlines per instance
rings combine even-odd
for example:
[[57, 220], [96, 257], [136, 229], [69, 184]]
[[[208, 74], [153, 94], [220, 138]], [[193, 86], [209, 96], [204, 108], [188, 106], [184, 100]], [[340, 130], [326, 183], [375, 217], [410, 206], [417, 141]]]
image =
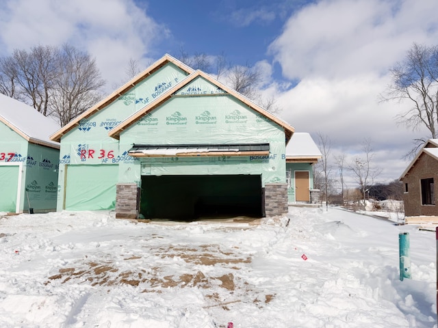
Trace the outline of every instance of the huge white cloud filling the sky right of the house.
[[268, 50], [283, 77], [298, 81], [276, 92], [279, 115], [315, 140], [327, 135], [333, 152], [350, 158], [370, 139], [379, 180], [398, 178], [412, 139], [428, 133], [397, 125], [409, 102], [379, 103], [378, 95], [413, 42], [438, 40], [436, 12], [435, 0], [323, 0], [294, 12]]

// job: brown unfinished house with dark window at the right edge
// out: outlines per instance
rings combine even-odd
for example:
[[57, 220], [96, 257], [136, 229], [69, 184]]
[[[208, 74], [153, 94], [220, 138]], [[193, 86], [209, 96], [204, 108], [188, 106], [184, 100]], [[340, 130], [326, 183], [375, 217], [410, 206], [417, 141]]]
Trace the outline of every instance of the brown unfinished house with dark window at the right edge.
[[428, 140], [404, 170], [404, 215], [406, 223], [438, 222], [438, 139]]

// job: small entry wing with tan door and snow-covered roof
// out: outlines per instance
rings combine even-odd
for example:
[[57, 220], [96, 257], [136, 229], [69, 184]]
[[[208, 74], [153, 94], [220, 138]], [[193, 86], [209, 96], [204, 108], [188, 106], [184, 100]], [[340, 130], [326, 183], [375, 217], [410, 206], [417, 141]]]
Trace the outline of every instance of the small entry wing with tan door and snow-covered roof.
[[313, 165], [322, 154], [309, 133], [294, 133], [286, 146], [287, 198], [289, 204], [317, 203], [313, 189]]

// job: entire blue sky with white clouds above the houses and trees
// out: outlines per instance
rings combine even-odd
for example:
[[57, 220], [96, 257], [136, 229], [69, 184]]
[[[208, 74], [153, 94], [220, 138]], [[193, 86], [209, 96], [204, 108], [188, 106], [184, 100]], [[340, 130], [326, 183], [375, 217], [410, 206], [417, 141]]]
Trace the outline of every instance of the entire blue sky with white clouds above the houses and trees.
[[[436, 0], [0, 0], [0, 55], [65, 42], [95, 59], [107, 93], [126, 81], [129, 59], [146, 68], [168, 53], [224, 53], [255, 66], [266, 98], [297, 132], [329, 138], [330, 156], [361, 155], [363, 141], [381, 169], [400, 177], [404, 155], [423, 129], [397, 124], [404, 102], [379, 102], [388, 70], [413, 42], [438, 40]], [[435, 42], [435, 43], [434, 43]], [[333, 164], [332, 174], [337, 169]], [[344, 172], [345, 175], [345, 172]], [[350, 183], [354, 181], [350, 179]]]

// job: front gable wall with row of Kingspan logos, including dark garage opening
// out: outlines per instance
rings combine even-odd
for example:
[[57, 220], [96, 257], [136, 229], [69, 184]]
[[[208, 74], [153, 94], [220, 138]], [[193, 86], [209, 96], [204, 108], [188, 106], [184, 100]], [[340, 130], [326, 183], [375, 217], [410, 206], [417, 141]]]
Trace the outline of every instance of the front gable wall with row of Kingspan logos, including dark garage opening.
[[[119, 162], [119, 183], [136, 183], [141, 188], [144, 217], [190, 218], [214, 214], [215, 208], [225, 204], [235, 209], [232, 196], [238, 194], [242, 195], [242, 213], [233, 214], [261, 216], [266, 184], [286, 183], [289, 136], [285, 128], [211, 83], [202, 72], [181, 84], [159, 105], [151, 105], [149, 111], [133, 115], [129, 124], [118, 126], [118, 135], [110, 132], [120, 137], [120, 151], [131, 155], [129, 161]], [[236, 143], [268, 144], [268, 151], [241, 152]], [[136, 145], [155, 145], [157, 150], [144, 147], [142, 151]], [[250, 193], [245, 185], [250, 186]], [[233, 188], [240, 188], [240, 193], [233, 194]], [[216, 202], [209, 201], [209, 191]], [[162, 195], [160, 200], [155, 193]], [[244, 195], [248, 195], [246, 200]], [[181, 209], [179, 213], [175, 208]]]

